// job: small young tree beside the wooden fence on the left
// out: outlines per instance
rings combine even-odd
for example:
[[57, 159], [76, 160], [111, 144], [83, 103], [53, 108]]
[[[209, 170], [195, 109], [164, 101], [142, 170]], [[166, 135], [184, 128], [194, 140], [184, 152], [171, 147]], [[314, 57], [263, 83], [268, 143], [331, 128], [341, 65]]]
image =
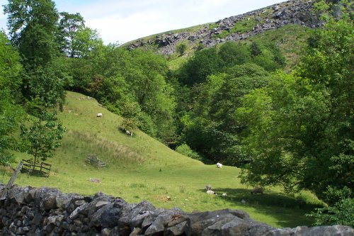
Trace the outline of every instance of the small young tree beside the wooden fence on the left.
[[33, 155], [33, 164], [45, 161], [54, 156], [64, 132], [65, 128], [57, 120], [56, 113], [42, 109], [37, 117], [30, 118], [30, 125], [21, 125], [22, 150]]

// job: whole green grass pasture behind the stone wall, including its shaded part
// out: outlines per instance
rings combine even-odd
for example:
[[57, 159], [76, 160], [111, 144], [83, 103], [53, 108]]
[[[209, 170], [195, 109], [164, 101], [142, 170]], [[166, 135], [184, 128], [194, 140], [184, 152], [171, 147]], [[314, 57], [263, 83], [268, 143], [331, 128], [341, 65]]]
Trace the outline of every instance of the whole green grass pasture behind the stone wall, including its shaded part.
[[[97, 113], [103, 113], [103, 117], [96, 118]], [[304, 216], [319, 204], [311, 193], [290, 197], [275, 188], [265, 189], [263, 196], [251, 195], [252, 187], [240, 184], [237, 177], [240, 169], [218, 169], [216, 165], [202, 164], [170, 150], [139, 130], [133, 137], [127, 136], [118, 130], [122, 118], [82, 94], [67, 93], [67, 104], [59, 119], [67, 127], [67, 133], [55, 157], [47, 160], [52, 164], [50, 176], [20, 174], [16, 184], [49, 186], [84, 195], [102, 191], [130, 203], [147, 200], [157, 207], [178, 207], [186, 212], [240, 209], [253, 219], [275, 227], [312, 224], [312, 219]], [[107, 162], [107, 167], [97, 169], [86, 164], [86, 156], [92, 153]], [[30, 158], [27, 154], [15, 154], [18, 162]], [[6, 183], [10, 174], [0, 170], [0, 181]], [[101, 179], [101, 183], [93, 183], [89, 178]], [[218, 195], [207, 195], [207, 184]], [[227, 196], [221, 196], [222, 193]], [[300, 198], [306, 203], [299, 201]], [[242, 200], [246, 203], [241, 203]]]

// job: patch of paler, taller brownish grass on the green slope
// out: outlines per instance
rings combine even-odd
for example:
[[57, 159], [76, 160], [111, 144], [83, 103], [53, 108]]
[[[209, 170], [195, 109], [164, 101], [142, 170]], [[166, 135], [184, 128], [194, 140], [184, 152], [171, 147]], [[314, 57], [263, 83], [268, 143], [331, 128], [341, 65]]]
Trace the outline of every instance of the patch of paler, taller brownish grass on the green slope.
[[130, 150], [129, 147], [107, 140], [97, 134], [79, 130], [69, 130], [67, 132], [67, 139], [63, 142], [62, 148], [64, 150], [81, 148], [87, 154], [101, 154], [103, 160], [109, 164], [141, 164], [145, 160], [145, 157]]

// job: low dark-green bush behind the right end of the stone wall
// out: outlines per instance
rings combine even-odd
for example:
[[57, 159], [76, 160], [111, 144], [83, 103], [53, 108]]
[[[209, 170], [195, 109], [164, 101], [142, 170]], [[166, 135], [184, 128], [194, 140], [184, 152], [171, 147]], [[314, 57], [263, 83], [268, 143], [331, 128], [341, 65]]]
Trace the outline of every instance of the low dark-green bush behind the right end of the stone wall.
[[315, 225], [348, 225], [354, 227], [354, 198], [346, 198], [334, 206], [316, 208], [307, 214], [316, 219]]

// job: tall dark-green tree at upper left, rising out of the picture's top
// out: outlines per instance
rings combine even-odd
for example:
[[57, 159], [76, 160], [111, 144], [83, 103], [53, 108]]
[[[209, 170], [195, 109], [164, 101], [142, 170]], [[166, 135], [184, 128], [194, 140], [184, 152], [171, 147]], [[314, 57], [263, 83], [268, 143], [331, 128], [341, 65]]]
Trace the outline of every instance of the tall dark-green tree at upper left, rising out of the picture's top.
[[22, 94], [31, 101], [39, 96], [45, 106], [64, 101], [64, 78], [59, 77], [55, 60], [59, 56], [56, 35], [59, 15], [50, 0], [13, 0], [4, 7], [8, 13], [11, 41], [23, 63]]

